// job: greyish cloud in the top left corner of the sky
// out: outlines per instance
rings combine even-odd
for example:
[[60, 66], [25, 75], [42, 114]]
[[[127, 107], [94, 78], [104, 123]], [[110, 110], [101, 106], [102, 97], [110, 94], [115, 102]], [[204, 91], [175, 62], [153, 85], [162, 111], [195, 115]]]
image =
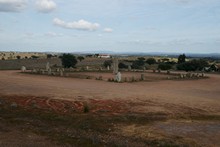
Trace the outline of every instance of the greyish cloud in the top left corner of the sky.
[[0, 12], [20, 12], [27, 6], [27, 0], [0, 0]]

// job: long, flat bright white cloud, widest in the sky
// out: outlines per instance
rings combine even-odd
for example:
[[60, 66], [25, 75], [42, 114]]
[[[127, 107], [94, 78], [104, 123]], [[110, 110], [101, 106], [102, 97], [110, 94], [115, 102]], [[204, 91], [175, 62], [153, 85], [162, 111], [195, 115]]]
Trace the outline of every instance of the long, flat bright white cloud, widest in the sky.
[[98, 23], [91, 23], [83, 19], [74, 22], [65, 22], [59, 18], [54, 18], [53, 23], [57, 26], [66, 28], [66, 29], [76, 29], [76, 30], [86, 30], [86, 31], [95, 31], [100, 25]]

